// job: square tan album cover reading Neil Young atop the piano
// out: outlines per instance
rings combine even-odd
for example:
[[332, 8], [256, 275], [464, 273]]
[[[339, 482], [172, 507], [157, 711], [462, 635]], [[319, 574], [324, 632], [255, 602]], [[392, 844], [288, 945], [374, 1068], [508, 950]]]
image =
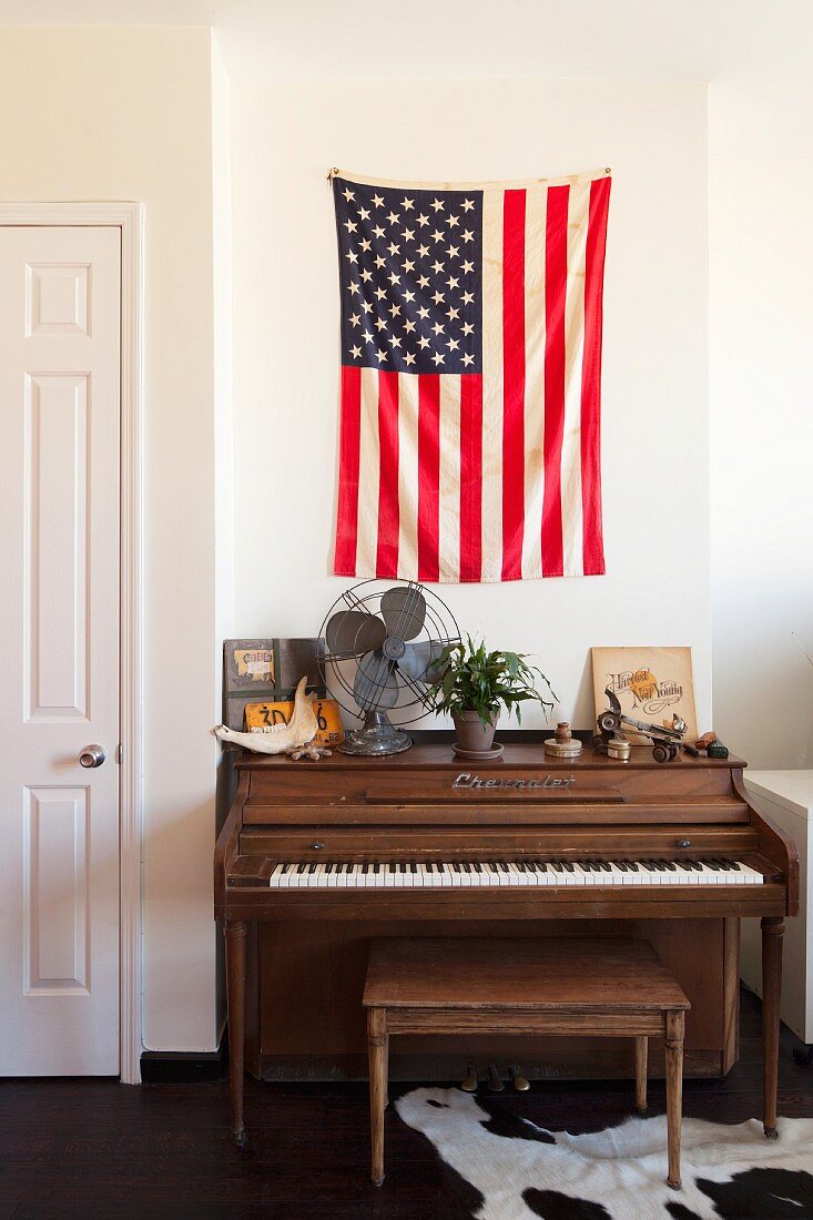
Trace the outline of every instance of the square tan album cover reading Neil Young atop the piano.
[[[634, 720], [671, 725], [674, 715], [686, 721], [686, 741], [698, 737], [691, 648], [593, 648], [596, 715], [608, 706], [605, 688], [614, 692], [621, 711]], [[625, 731], [634, 745], [649, 744], [635, 731]]]

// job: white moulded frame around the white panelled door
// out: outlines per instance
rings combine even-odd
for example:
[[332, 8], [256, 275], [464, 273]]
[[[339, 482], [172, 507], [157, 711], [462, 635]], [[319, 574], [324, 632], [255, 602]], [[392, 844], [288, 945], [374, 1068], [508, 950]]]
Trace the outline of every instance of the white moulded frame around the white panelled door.
[[2, 227], [83, 224], [121, 231], [118, 1043], [121, 1081], [138, 1085], [142, 1078], [144, 205], [0, 201]]

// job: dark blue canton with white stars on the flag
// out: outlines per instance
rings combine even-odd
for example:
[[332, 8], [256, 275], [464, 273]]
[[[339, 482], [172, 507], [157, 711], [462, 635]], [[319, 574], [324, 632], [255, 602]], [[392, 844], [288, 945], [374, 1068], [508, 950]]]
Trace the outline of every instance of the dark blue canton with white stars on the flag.
[[482, 192], [333, 178], [342, 364], [482, 372]]

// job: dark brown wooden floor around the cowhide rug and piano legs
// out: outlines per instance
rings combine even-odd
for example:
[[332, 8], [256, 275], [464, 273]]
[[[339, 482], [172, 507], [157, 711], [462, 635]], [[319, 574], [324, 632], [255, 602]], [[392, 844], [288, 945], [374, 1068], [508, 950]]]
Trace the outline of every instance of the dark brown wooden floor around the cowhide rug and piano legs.
[[[813, 1066], [793, 1061], [792, 1041], [784, 1031], [780, 1114], [813, 1116]], [[387, 1120], [387, 1180], [380, 1190], [369, 1182], [365, 1086], [247, 1086], [250, 1146], [239, 1152], [228, 1136], [225, 1078], [140, 1088], [106, 1080], [1, 1082], [0, 1220], [471, 1216], [466, 1183], [397, 1116]], [[590, 1131], [630, 1113], [624, 1082], [536, 1083], [530, 1093], [497, 1097], [483, 1088], [479, 1099], [505, 1133], [518, 1115]], [[649, 1102], [651, 1113], [663, 1109], [659, 1082]], [[753, 997], [743, 994], [740, 1064], [725, 1081], [688, 1081], [685, 1113], [718, 1122], [759, 1115]]]

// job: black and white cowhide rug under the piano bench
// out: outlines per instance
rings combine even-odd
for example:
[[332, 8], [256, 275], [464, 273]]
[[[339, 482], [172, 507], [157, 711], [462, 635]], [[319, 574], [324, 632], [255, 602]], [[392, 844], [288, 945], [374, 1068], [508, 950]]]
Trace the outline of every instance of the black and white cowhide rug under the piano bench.
[[490, 1114], [457, 1088], [415, 1089], [396, 1110], [480, 1193], [476, 1220], [813, 1218], [813, 1119], [780, 1119], [774, 1142], [756, 1119], [684, 1119], [682, 1190], [673, 1191], [664, 1115], [571, 1136]]

